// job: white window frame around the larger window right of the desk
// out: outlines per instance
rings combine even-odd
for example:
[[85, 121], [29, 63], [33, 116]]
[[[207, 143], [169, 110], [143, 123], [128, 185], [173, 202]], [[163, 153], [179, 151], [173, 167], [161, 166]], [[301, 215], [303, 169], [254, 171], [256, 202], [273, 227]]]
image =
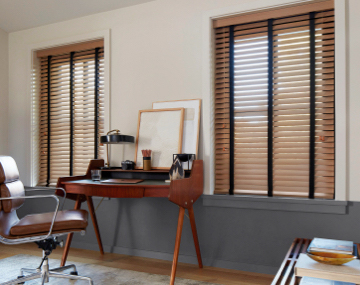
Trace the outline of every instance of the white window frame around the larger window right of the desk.
[[[259, 12], [266, 9], [284, 8], [318, 1], [273, 1], [273, 5], [266, 5], [263, 1], [240, 4], [223, 9], [212, 10], [203, 15], [203, 158], [205, 165], [205, 191], [204, 194], [214, 194], [215, 188], [215, 132], [214, 132], [214, 37], [212, 21], [225, 16], [234, 16], [250, 12]], [[347, 177], [347, 33], [346, 33], [346, 3], [342, 0], [334, 1], [335, 9], [335, 201], [347, 201], [349, 197]], [[265, 197], [266, 198], [266, 197]], [[298, 199], [298, 198], [291, 198]]]

